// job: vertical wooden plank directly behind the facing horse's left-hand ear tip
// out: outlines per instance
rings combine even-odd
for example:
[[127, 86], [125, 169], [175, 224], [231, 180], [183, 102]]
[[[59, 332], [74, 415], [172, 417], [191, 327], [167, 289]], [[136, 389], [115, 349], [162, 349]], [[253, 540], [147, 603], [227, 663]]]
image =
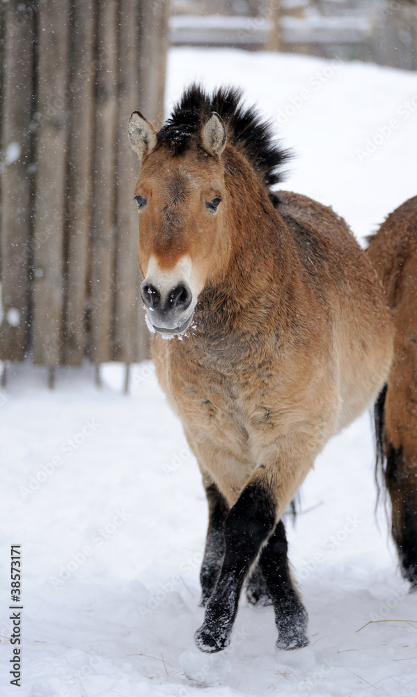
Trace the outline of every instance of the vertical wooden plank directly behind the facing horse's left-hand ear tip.
[[138, 42], [136, 0], [119, 0], [118, 20], [118, 119], [116, 133], [116, 302], [114, 317], [115, 360], [137, 360], [139, 267], [137, 257], [138, 213], [133, 201], [138, 158], [127, 139], [127, 121], [138, 108]]

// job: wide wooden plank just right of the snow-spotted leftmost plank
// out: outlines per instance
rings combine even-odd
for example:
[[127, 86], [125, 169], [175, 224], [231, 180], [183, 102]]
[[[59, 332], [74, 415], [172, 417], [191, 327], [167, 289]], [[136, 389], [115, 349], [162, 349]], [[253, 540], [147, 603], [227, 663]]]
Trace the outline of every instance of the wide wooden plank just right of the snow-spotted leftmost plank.
[[33, 362], [55, 367], [63, 346], [63, 242], [68, 162], [68, 0], [38, 5], [38, 132], [33, 239]]

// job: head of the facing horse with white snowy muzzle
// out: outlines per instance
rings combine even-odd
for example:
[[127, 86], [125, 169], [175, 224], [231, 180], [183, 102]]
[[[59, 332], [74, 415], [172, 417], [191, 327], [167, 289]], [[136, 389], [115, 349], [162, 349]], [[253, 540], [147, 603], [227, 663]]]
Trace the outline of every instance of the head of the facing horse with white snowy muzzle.
[[155, 330], [179, 334], [190, 325], [207, 279], [224, 262], [226, 128], [212, 112], [191, 137], [187, 124], [182, 130], [168, 124], [157, 133], [133, 112], [129, 139], [141, 160], [134, 199], [142, 300]]

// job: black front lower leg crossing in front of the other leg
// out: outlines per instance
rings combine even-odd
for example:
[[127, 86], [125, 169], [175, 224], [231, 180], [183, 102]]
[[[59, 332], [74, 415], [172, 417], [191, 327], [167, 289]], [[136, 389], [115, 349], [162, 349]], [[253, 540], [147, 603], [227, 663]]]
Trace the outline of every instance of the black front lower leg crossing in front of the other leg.
[[249, 484], [226, 518], [226, 552], [219, 579], [207, 602], [196, 644], [216, 652], [229, 643], [244, 578], [275, 524], [275, 502], [258, 484]]

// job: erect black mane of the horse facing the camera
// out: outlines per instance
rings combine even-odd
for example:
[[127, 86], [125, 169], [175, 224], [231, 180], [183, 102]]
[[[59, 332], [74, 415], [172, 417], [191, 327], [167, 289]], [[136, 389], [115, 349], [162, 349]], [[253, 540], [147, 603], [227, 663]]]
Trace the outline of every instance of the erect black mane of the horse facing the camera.
[[159, 131], [159, 143], [168, 145], [175, 155], [181, 153], [212, 112], [223, 118], [230, 144], [262, 174], [267, 187], [283, 180], [281, 166], [290, 159], [290, 152], [274, 141], [272, 126], [262, 121], [255, 107], [242, 105], [242, 91], [233, 87], [221, 87], [209, 95], [200, 85], [191, 84]]

